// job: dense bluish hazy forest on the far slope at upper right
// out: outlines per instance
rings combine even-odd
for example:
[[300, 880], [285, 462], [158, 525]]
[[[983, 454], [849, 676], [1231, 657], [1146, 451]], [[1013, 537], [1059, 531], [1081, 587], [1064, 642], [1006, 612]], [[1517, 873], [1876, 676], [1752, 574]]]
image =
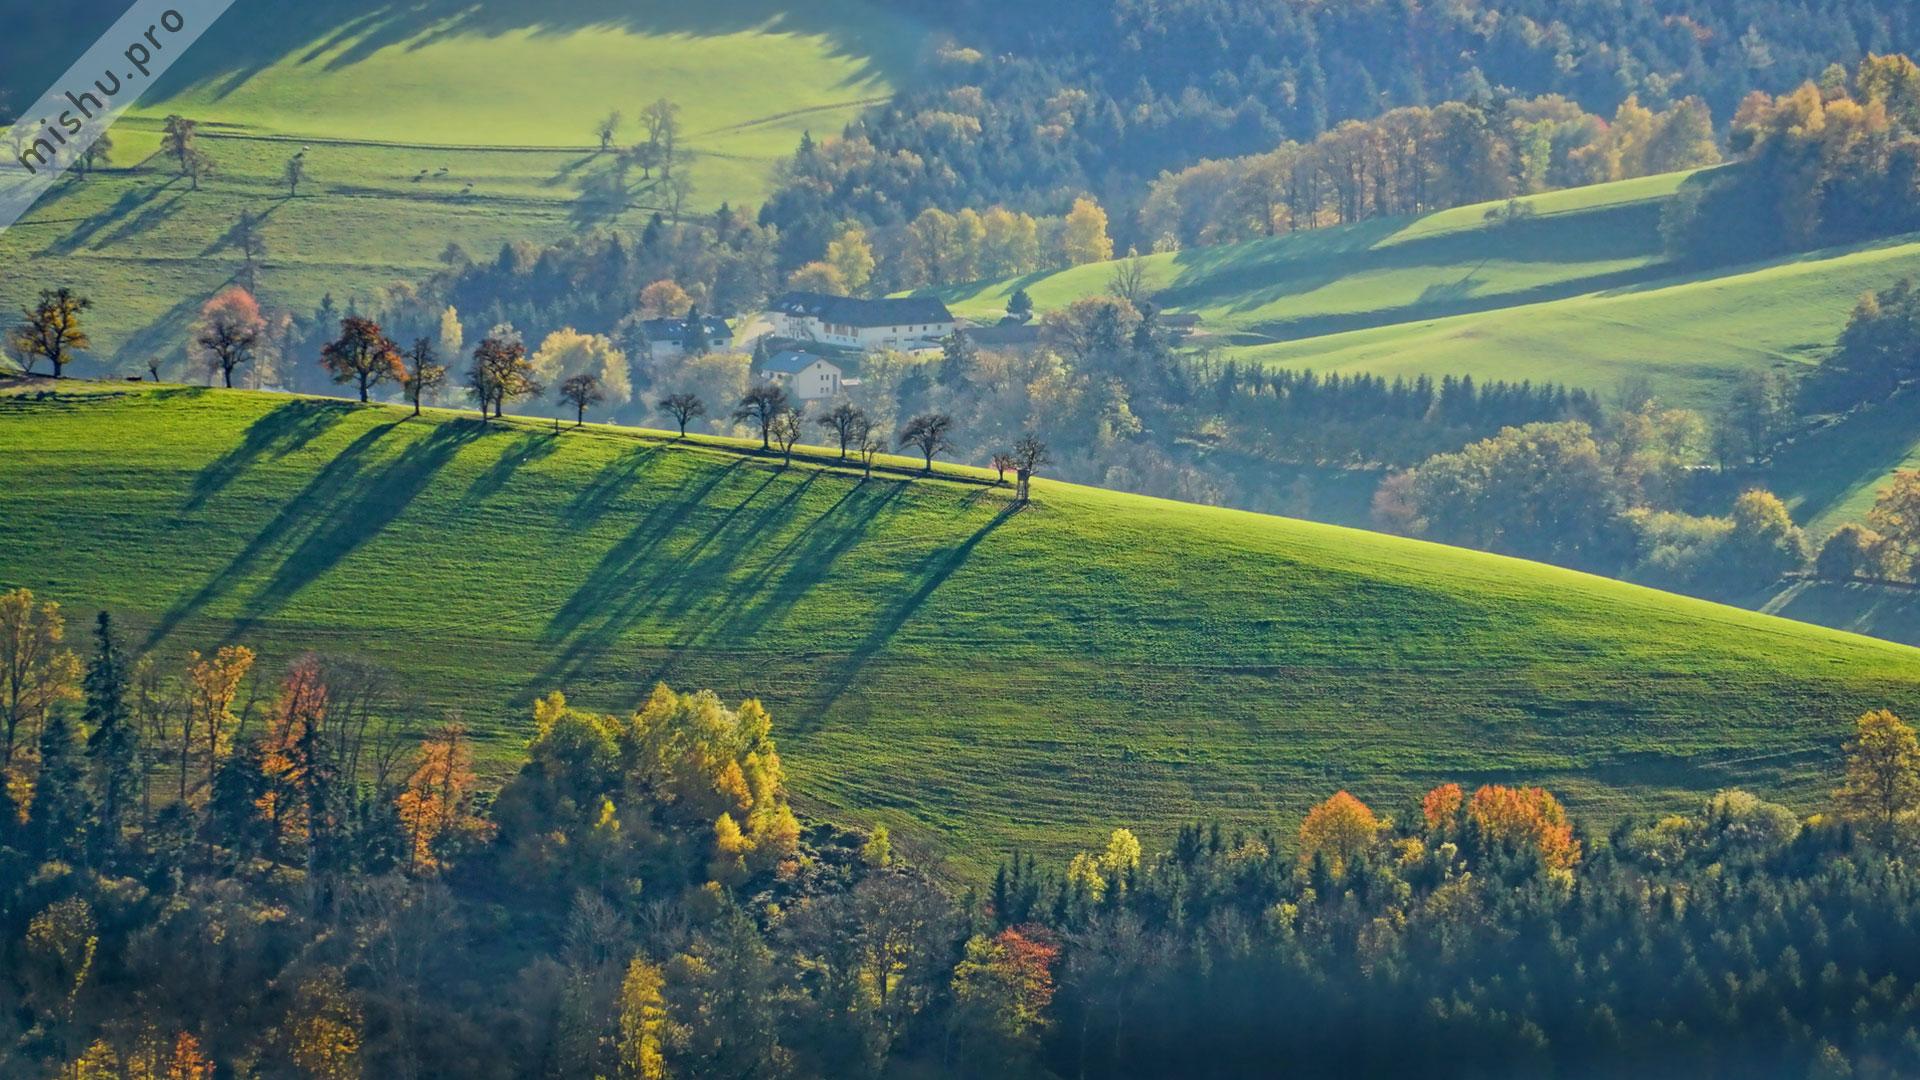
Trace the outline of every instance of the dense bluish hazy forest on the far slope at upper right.
[[1133, 229], [1144, 184], [1198, 160], [1311, 142], [1405, 106], [1498, 108], [1559, 94], [1615, 115], [1690, 96], [1730, 117], [1753, 90], [1786, 92], [1830, 63], [1920, 44], [1887, 2], [1417, 6], [1064, 4], [939, 6], [952, 46], [916, 86], [851, 125], [828, 173], [801, 161], [762, 221], [783, 261], [814, 258], [847, 217], [900, 225], [925, 208], [1006, 204], [1060, 213], [1092, 192]]

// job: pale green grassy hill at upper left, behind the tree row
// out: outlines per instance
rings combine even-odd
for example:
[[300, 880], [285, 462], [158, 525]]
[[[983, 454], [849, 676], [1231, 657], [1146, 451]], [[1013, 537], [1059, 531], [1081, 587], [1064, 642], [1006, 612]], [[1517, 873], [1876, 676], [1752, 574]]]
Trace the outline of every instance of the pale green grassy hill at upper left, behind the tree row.
[[[0, 234], [0, 263], [29, 267], [0, 279], [0, 307], [73, 284], [100, 300], [98, 352], [140, 369], [228, 282], [244, 209], [265, 215], [263, 298], [301, 311], [415, 282], [449, 240], [490, 258], [507, 240], [637, 229], [662, 206], [637, 171], [624, 206], [584, 194], [611, 167], [593, 125], [620, 110], [636, 142], [660, 96], [684, 108], [691, 206], [753, 204], [803, 131], [889, 96], [922, 40], [868, 0], [240, 0], [113, 129], [115, 169], [63, 183]], [[204, 123], [219, 169], [200, 192], [148, 160], [175, 111]], [[313, 181], [288, 200], [280, 169], [303, 146]]]

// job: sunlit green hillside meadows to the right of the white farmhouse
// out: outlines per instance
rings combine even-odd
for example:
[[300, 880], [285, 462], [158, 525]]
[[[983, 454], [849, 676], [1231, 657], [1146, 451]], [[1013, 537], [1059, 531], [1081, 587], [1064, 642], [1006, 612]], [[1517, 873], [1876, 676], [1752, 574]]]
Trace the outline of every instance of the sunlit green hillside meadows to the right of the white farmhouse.
[[[1713, 415], [1738, 377], [1799, 371], [1832, 348], [1862, 292], [1920, 277], [1920, 236], [1682, 271], [1659, 211], [1686, 175], [1323, 229], [1148, 258], [1171, 311], [1200, 313], [1223, 356], [1386, 377], [1473, 375], [1607, 392], [1645, 377]], [[968, 284], [941, 296], [993, 319], [1020, 286], [1044, 311], [1108, 290], [1112, 265]], [[1791, 448], [1768, 482], [1816, 536], [1872, 507], [1895, 467], [1920, 465], [1914, 404], [1897, 400]]]

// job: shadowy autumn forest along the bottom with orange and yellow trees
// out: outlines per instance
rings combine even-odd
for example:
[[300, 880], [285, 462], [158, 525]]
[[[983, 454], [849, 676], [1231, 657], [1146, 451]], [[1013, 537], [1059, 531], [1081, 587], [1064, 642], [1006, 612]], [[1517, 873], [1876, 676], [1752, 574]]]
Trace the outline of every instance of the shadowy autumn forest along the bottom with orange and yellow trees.
[[0, 630], [10, 1076], [1920, 1068], [1920, 744], [1884, 711], [1812, 817], [1338, 792], [964, 888], [803, 822], [756, 701], [549, 694], [490, 788], [403, 673], [140, 657], [25, 590]]

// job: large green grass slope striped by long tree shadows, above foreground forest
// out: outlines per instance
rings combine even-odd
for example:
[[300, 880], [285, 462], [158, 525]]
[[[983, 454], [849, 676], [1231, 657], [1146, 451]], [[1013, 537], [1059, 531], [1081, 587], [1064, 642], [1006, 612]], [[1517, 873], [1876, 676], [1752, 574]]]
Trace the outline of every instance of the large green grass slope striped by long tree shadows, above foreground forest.
[[[495, 769], [528, 701], [764, 696], [801, 801], [981, 872], [1352, 788], [1553, 786], [1596, 821], [1812, 807], [1920, 651], [1325, 525], [739, 444], [190, 388], [0, 394], [0, 584], [146, 648], [361, 653]], [[1628, 801], [1630, 799], [1630, 801]]]

